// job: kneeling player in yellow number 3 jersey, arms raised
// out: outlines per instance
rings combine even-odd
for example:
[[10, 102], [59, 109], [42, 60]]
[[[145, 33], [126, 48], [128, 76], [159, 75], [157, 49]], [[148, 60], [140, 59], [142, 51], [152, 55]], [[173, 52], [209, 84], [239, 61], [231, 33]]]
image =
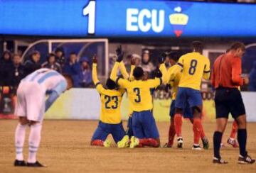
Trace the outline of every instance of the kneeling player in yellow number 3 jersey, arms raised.
[[143, 80], [144, 71], [142, 67], [135, 67], [133, 72], [134, 81], [131, 82], [127, 79], [117, 78], [118, 67], [119, 62], [116, 62], [110, 79], [126, 89], [128, 97], [132, 101], [132, 128], [134, 136], [131, 138], [130, 147], [159, 147], [159, 131], [151, 111], [153, 104], [150, 89], [159, 86], [162, 79]]

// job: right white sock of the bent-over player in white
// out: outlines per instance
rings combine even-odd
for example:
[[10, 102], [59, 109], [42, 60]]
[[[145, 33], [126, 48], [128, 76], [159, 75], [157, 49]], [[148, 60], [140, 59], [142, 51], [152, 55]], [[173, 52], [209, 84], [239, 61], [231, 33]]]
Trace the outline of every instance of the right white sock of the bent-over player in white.
[[28, 163], [36, 162], [36, 152], [38, 150], [40, 140], [41, 140], [41, 129], [42, 123], [36, 123], [31, 125], [31, 131], [29, 133], [28, 143], [29, 143], [29, 152], [28, 152]]

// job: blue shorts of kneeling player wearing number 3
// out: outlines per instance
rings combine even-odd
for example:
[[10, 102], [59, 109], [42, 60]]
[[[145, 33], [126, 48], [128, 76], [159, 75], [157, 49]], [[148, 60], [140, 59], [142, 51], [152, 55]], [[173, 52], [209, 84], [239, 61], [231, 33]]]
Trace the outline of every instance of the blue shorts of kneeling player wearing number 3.
[[136, 138], [159, 138], [159, 131], [151, 111], [132, 113], [132, 129]]

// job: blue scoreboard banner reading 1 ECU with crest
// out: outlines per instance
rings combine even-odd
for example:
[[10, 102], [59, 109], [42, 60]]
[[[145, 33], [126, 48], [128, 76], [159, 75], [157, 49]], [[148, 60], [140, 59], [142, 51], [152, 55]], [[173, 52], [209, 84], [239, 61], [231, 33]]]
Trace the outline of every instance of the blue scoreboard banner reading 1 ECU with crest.
[[161, 0], [0, 0], [1, 35], [256, 37], [256, 5]]

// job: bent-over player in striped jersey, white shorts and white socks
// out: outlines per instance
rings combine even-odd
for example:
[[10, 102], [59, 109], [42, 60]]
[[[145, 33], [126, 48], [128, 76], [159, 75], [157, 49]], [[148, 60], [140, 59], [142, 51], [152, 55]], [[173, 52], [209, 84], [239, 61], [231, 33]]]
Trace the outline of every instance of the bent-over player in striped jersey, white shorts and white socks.
[[[63, 91], [70, 89], [72, 80], [52, 69], [38, 69], [21, 80], [17, 90], [15, 114], [19, 123], [15, 132], [16, 160], [14, 166], [43, 167], [36, 160], [41, 140], [43, 114]], [[46, 100], [46, 95], [48, 99]], [[45, 101], [46, 100], [46, 101]], [[28, 138], [28, 162], [23, 159], [26, 127], [31, 128]]]

